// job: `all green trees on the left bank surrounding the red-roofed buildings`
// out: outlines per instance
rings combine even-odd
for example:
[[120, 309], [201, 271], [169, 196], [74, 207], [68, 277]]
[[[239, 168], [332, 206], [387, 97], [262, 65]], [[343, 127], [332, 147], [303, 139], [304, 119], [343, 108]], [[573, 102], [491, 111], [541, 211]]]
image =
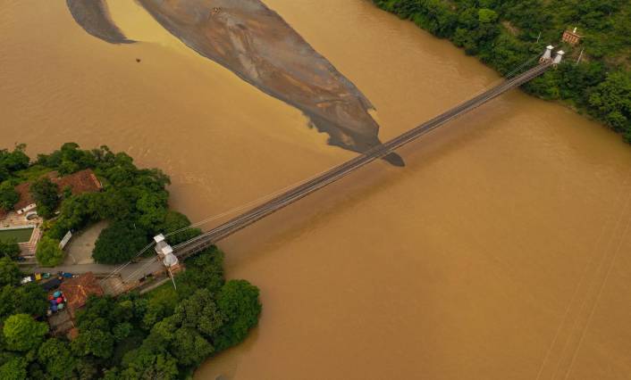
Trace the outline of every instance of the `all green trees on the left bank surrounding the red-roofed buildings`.
[[[38, 260], [61, 263], [59, 236], [107, 220], [93, 257], [99, 262], [130, 259], [165, 230], [190, 225], [168, 209], [169, 178], [159, 169], [139, 169], [126, 153], [106, 146], [91, 151], [67, 143], [31, 162], [25, 145], [0, 150], [0, 207], [13, 210], [13, 188], [29, 183], [44, 202], [44, 236]], [[103, 184], [99, 192], [72, 194], [48, 178], [91, 169]], [[36, 185], [37, 184], [37, 185]], [[34, 195], [34, 194], [33, 194]], [[195, 228], [172, 235], [188, 240]], [[147, 240], [148, 239], [148, 240]], [[174, 277], [147, 293], [90, 296], [77, 312], [78, 335], [54, 336], [46, 323], [48, 294], [34, 282], [20, 285], [17, 244], [0, 242], [0, 378], [183, 379], [204, 360], [241, 343], [257, 326], [262, 306], [257, 286], [226, 280], [223, 252], [213, 246], [185, 261]]]

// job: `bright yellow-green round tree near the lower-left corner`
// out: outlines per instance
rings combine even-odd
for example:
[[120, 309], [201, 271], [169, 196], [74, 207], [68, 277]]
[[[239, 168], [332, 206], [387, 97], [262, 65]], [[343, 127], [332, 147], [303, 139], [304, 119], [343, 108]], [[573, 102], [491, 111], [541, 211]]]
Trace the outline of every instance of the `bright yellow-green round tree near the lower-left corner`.
[[47, 333], [46, 322], [37, 322], [27, 314], [15, 314], [4, 321], [4, 341], [9, 350], [29, 351], [43, 342]]

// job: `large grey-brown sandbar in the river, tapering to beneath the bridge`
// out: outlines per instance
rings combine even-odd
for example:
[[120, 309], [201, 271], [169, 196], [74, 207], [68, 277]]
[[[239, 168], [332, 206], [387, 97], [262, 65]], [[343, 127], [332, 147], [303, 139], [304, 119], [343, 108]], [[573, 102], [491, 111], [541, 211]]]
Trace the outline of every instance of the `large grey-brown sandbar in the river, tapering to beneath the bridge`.
[[[260, 0], [139, 0], [175, 37], [268, 95], [304, 112], [329, 144], [380, 145], [373, 105]], [[403, 166], [396, 153], [384, 158]]]

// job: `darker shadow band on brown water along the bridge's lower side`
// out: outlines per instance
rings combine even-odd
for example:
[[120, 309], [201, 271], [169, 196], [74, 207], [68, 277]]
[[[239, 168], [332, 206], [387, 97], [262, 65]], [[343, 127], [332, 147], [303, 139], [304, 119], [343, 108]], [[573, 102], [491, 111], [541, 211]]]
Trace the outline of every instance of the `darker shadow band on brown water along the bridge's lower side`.
[[[502, 102], [501, 99], [495, 102]], [[300, 202], [259, 220], [218, 245], [230, 252], [227, 269], [240, 262], [263, 260], [265, 252], [276, 251], [283, 244], [324, 227], [341, 212], [354, 210], [366, 198], [388, 192], [419, 170], [431, 167], [443, 157], [474, 145], [511, 115], [512, 102], [502, 107], [481, 107], [397, 151], [407, 162], [404, 167], [378, 160], [358, 169], [346, 178], [309, 194]], [[496, 104], [496, 103], [495, 103]], [[508, 105], [508, 106], [503, 106]], [[431, 186], [428, 185], [428, 186]], [[375, 221], [379, 223], [379, 221]], [[389, 228], [397, 228], [389, 225]], [[351, 238], [351, 236], [349, 236]], [[355, 238], [355, 237], [352, 237]], [[361, 238], [361, 236], [357, 236]]]

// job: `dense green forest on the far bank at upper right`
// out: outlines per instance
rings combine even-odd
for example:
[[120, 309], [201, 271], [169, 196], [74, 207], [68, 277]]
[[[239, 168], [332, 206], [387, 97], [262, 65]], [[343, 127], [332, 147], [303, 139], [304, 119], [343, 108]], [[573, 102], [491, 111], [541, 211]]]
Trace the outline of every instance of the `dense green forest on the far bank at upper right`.
[[[508, 74], [546, 45], [568, 52], [524, 86], [601, 120], [631, 143], [631, 2], [628, 0], [373, 0]], [[576, 46], [561, 44], [577, 28]], [[581, 54], [581, 52], [583, 54]], [[578, 62], [580, 57], [580, 62]]]

